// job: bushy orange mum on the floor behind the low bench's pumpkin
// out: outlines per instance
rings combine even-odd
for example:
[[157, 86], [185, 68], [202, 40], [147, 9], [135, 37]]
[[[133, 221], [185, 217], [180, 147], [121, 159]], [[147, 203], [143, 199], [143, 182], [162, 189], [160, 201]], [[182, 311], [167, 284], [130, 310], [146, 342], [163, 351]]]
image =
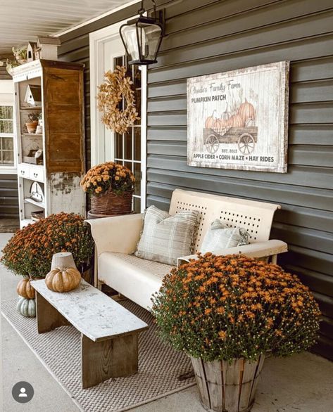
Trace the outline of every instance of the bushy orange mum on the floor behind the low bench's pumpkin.
[[4, 247], [1, 262], [18, 275], [44, 278], [54, 253], [71, 252], [80, 267], [93, 251], [94, 240], [83, 217], [62, 212], [17, 231]]

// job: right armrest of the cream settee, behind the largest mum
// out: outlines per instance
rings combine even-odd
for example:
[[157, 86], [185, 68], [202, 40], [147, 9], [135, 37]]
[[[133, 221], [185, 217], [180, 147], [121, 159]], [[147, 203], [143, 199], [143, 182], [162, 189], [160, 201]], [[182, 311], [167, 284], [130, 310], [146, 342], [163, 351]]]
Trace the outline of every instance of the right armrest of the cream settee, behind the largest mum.
[[[227, 247], [221, 251], [220, 255], [242, 254], [247, 257], [269, 257], [279, 253], [288, 252], [288, 245], [282, 240], [267, 240], [266, 242], [250, 243], [249, 245]], [[177, 266], [189, 262], [189, 259], [197, 259], [196, 255], [178, 257]]]

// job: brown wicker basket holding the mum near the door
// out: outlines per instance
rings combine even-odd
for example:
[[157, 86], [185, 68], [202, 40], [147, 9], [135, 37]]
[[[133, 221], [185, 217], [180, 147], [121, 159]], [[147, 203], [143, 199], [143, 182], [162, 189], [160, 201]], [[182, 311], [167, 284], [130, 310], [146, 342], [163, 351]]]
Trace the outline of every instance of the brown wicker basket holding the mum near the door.
[[92, 214], [107, 214], [108, 216], [119, 216], [130, 214], [132, 210], [133, 191], [123, 192], [120, 195], [112, 191], [92, 196]]

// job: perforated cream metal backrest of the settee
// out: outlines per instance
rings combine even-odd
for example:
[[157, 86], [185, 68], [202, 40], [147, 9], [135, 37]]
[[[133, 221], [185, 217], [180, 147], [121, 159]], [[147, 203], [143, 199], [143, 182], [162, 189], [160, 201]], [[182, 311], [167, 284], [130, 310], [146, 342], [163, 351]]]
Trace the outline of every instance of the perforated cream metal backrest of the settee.
[[272, 203], [176, 189], [172, 193], [169, 213], [173, 215], [182, 210], [199, 210], [201, 220], [195, 233], [194, 247], [197, 251], [215, 219], [220, 219], [230, 228], [246, 228], [250, 243], [268, 240], [274, 212], [280, 208], [280, 205]]

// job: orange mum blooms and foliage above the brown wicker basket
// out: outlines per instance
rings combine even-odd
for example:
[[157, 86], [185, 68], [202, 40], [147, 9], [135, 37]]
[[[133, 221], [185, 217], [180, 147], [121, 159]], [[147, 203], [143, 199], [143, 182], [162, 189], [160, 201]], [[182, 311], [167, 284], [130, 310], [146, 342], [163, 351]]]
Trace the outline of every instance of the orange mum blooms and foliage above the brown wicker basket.
[[127, 167], [114, 162], [106, 162], [102, 165], [92, 167], [81, 181], [84, 192], [94, 196], [101, 195], [107, 191], [116, 194], [132, 191], [134, 175]]

